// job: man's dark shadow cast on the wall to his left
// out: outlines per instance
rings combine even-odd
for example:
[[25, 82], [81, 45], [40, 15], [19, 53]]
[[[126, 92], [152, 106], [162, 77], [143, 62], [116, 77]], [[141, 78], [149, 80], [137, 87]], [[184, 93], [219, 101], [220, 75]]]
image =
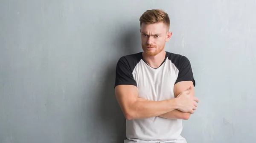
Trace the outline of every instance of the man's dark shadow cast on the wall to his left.
[[[116, 40], [119, 41], [118, 43], [113, 44], [113, 50], [119, 51], [118, 53], [121, 53], [121, 56], [136, 52], [137, 49], [134, 47], [140, 46], [138, 45], [140, 39], [137, 39], [137, 37], [140, 36], [138, 30], [139, 29], [131, 27], [130, 29], [127, 29], [126, 32], [122, 32], [124, 35], [119, 37], [119, 40]], [[102, 88], [99, 88], [102, 90], [99, 92], [101, 97], [101, 107], [99, 112], [100, 118], [102, 119], [101, 124], [105, 125], [105, 128], [108, 129], [104, 134], [109, 134], [111, 137], [113, 137], [114, 134], [114, 138], [108, 137], [108, 140], [105, 140], [105, 143], [123, 143], [123, 140], [126, 139], [125, 117], [116, 100], [114, 92], [116, 63], [119, 58], [120, 57], [114, 58], [116, 60], [111, 61], [111, 64], [105, 68], [107, 71], [105, 72], [105, 75], [102, 76], [105, 77], [105, 80], [103, 80]]]

